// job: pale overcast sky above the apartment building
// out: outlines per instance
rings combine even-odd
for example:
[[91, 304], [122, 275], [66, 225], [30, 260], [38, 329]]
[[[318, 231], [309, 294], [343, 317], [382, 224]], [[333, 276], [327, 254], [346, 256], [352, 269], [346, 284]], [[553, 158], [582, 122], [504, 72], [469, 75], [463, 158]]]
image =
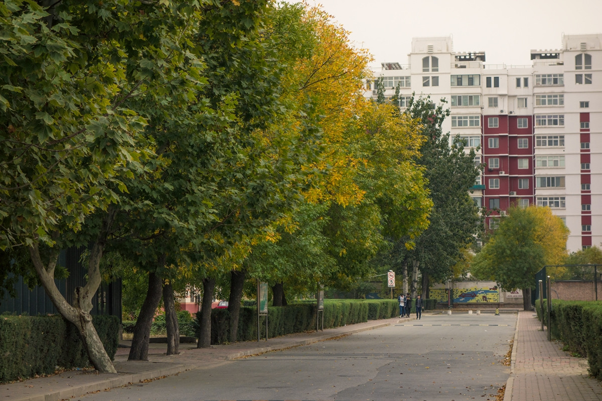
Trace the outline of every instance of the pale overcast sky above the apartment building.
[[[288, 2], [296, 2], [287, 0]], [[371, 66], [408, 64], [413, 37], [452, 36], [453, 51], [485, 51], [486, 64], [530, 65], [531, 49], [560, 49], [562, 35], [602, 33], [602, 0], [308, 0], [351, 31]]]

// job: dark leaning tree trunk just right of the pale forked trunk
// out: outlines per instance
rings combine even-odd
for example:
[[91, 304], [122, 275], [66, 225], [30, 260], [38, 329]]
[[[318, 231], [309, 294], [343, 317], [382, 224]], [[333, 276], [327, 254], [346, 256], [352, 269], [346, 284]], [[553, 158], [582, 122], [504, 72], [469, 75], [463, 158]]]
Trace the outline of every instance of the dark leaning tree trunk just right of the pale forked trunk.
[[149, 273], [149, 287], [146, 290], [146, 298], [140, 308], [140, 314], [134, 326], [132, 347], [129, 349], [130, 361], [147, 361], [149, 357], [149, 338], [151, 338], [151, 325], [155, 317], [155, 311], [161, 301], [161, 287], [163, 280], [155, 274]]

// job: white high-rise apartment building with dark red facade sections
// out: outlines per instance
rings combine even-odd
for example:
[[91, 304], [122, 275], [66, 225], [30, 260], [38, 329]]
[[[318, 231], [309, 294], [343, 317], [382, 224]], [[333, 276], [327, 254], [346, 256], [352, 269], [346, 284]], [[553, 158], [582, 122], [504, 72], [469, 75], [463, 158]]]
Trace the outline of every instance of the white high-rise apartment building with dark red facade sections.
[[[530, 66], [486, 64], [454, 52], [451, 37], [412, 39], [409, 64], [382, 63], [385, 96], [445, 98], [444, 132], [479, 146], [474, 201], [494, 218], [510, 204], [549, 206], [577, 251], [602, 243], [602, 34], [563, 35], [562, 48], [532, 50]], [[375, 81], [365, 96], [376, 98]]]

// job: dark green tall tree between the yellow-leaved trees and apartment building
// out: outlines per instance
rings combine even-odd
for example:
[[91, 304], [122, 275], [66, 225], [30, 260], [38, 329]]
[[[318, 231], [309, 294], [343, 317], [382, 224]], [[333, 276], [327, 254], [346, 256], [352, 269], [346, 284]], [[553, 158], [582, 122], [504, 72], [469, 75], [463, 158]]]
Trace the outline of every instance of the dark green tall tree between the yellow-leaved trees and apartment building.
[[412, 293], [418, 287], [421, 274], [423, 297], [428, 296], [432, 281], [446, 280], [453, 274], [453, 266], [462, 259], [464, 249], [474, 242], [479, 233], [480, 218], [470, 198], [479, 170], [474, 165], [474, 150], [465, 152], [462, 142], [450, 142], [449, 133], [442, 131], [442, 123], [450, 114], [444, 101], [434, 105], [430, 97], [409, 102], [403, 112], [420, 121], [420, 148], [418, 165], [424, 168], [430, 198], [433, 202], [429, 227], [409, 246], [396, 246], [390, 259], [400, 275], [412, 271]]

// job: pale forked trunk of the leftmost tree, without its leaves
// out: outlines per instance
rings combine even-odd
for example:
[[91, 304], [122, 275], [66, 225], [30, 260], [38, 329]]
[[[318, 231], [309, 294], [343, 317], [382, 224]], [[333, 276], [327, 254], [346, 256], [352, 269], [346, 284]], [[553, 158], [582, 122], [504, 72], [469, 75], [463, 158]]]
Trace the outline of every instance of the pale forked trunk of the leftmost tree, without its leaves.
[[115, 213], [116, 208], [111, 206], [105, 214], [101, 230], [98, 233], [98, 237], [96, 237], [96, 242], [92, 246], [92, 251], [90, 251], [87, 272], [88, 280], [84, 287], [77, 287], [75, 289], [73, 305], [67, 302], [54, 281], [54, 269], [58, 262], [58, 249], [51, 250], [47, 259], [49, 261], [48, 265], [44, 265], [38, 244], [34, 242], [33, 245], [29, 246], [31, 262], [48, 298], [51, 299], [58, 313], [76, 326], [79, 337], [88, 354], [88, 359], [90, 359], [95, 369], [101, 373], [117, 373], [117, 370], [113, 366], [111, 358], [109, 358], [101, 339], [98, 337], [96, 328], [92, 324], [90, 311], [92, 310], [92, 298], [101, 284], [100, 263]]

